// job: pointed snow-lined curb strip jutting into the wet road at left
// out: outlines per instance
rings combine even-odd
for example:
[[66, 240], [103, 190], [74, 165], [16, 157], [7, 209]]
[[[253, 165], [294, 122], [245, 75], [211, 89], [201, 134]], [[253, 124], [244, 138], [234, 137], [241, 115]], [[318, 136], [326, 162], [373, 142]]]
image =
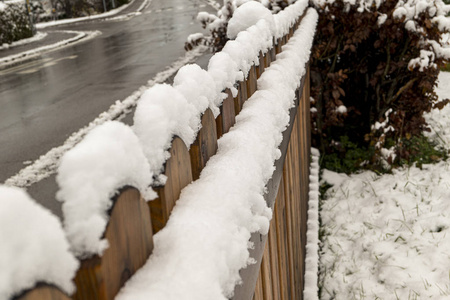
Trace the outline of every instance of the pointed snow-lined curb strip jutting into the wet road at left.
[[5, 67], [13, 65], [15, 63], [35, 58], [35, 57], [41, 55], [43, 52], [48, 52], [48, 51], [51, 51], [51, 50], [60, 49], [60, 48], [65, 47], [65, 46], [67, 46], [69, 44], [74, 44], [75, 42], [80, 42], [82, 40], [85, 41], [87, 39], [92, 39], [92, 38], [94, 38], [94, 37], [96, 37], [96, 36], [101, 34], [100, 31], [71, 31], [71, 30], [65, 30], [65, 31], [61, 31], [61, 32], [76, 34], [76, 36], [73, 37], [73, 38], [67, 39], [67, 40], [63, 40], [63, 41], [57, 42], [57, 43], [52, 44], [52, 45], [42, 46], [42, 47], [39, 47], [39, 48], [36, 48], [36, 49], [33, 49], [33, 50], [21, 52], [21, 53], [16, 54], [16, 55], [11, 55], [11, 56], [7, 56], [7, 57], [4, 57], [4, 58], [0, 58], [0, 67], [1, 68], [5, 68]]

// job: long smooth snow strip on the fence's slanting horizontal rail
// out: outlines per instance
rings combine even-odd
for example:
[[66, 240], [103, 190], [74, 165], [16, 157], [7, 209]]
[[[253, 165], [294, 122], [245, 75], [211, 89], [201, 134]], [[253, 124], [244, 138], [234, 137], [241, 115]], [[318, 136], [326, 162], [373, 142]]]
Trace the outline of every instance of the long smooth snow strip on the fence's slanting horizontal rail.
[[[265, 185], [280, 157], [295, 90], [309, 60], [317, 13], [310, 9], [283, 54], [261, 75], [236, 124], [219, 141], [200, 179], [187, 186], [146, 265], [117, 299], [228, 299], [241, 282], [252, 232], [266, 234]], [[285, 71], [293, 78], [280, 76]]]

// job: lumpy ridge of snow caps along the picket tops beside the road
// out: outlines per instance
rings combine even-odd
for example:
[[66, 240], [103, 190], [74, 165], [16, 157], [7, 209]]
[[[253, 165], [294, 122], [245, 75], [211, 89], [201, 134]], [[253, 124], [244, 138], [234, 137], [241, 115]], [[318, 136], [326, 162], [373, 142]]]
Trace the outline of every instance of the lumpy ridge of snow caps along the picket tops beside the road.
[[173, 86], [155, 85], [142, 95], [133, 125], [139, 141], [127, 126], [111, 122], [94, 129], [64, 155], [57, 176], [57, 198], [64, 202], [65, 229], [77, 256], [101, 255], [107, 247], [102, 234], [108, 223], [111, 196], [125, 184], [134, 185], [145, 196], [148, 185], [154, 183], [152, 175], [158, 184], [164, 183], [161, 174], [173, 137], [180, 136], [188, 147], [194, 142], [205, 110], [211, 108], [217, 117], [226, 97], [223, 91], [229, 88], [236, 96], [237, 81], [251, 65], [259, 63], [259, 54], [273, 46], [274, 38], [289, 33], [308, 1], [297, 1], [270, 17], [262, 4], [255, 3], [250, 1], [236, 10], [236, 23], [244, 23], [239, 21], [245, 18], [240, 9], [247, 13], [257, 10], [264, 18], [237, 26], [242, 31], [210, 59], [207, 71], [197, 65], [184, 66]]

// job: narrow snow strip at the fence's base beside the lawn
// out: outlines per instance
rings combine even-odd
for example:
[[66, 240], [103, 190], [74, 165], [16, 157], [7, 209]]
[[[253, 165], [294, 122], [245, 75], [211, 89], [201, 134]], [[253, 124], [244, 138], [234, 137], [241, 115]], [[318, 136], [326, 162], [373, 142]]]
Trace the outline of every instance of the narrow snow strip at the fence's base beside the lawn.
[[303, 299], [318, 300], [319, 289], [319, 158], [320, 152], [311, 148], [309, 175], [308, 231], [306, 232], [305, 288]]

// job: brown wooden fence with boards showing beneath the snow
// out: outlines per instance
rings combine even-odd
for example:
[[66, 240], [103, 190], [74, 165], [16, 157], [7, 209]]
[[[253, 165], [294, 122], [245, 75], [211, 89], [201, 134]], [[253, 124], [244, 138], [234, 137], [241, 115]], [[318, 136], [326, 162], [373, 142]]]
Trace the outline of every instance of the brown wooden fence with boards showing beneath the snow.
[[[158, 198], [145, 202], [132, 187], [124, 187], [114, 199], [105, 231], [109, 248], [101, 257], [81, 261], [75, 278], [77, 292], [68, 297], [55, 287], [40, 285], [17, 299], [113, 299], [124, 283], [144, 265], [153, 249], [154, 233], [167, 223], [181, 190], [199, 178], [208, 159], [217, 151], [217, 139], [228, 132], [244, 102], [256, 91], [257, 78], [282, 51], [290, 33], [275, 41], [273, 49], [260, 55], [245, 81], [237, 83], [238, 95], [228, 97], [214, 119], [210, 110], [202, 116], [202, 128], [188, 151], [175, 137], [170, 159], [165, 164], [167, 182], [155, 186]], [[253, 234], [251, 256], [257, 261], [241, 271], [243, 285], [235, 289], [236, 300], [302, 299], [306, 242], [306, 214], [309, 186], [310, 119], [309, 73], [298, 89], [290, 125], [283, 133], [282, 156], [268, 183], [265, 199], [274, 214], [269, 234]]]

